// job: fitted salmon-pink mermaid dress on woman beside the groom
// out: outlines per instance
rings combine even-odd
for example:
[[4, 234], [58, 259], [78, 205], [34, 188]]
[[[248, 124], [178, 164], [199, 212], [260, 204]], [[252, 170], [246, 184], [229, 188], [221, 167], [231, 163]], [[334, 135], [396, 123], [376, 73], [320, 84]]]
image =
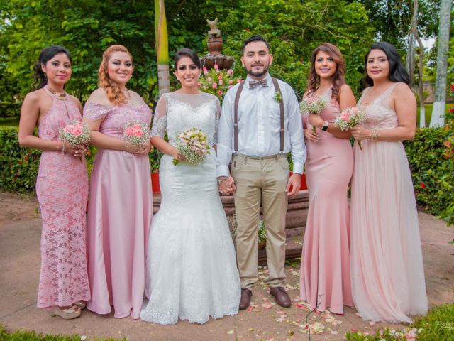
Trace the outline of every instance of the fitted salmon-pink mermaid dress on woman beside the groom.
[[[320, 113], [332, 122], [339, 104], [331, 90], [323, 95], [328, 107]], [[308, 119], [303, 117], [307, 126]], [[306, 181], [309, 213], [301, 256], [300, 298], [319, 311], [330, 308], [342, 314], [353, 306], [350, 291], [348, 183], [353, 172], [353, 149], [348, 139], [338, 139], [317, 129], [319, 141], [306, 142]]]

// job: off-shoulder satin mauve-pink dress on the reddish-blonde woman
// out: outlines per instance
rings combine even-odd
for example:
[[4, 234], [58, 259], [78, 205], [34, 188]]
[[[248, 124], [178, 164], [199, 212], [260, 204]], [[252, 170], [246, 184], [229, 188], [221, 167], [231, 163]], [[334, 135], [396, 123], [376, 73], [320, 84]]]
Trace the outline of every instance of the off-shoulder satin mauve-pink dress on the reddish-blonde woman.
[[[104, 107], [87, 103], [84, 118], [102, 121], [99, 131], [122, 139], [128, 121], [150, 124], [146, 104]], [[145, 244], [153, 214], [148, 155], [99, 148], [90, 179], [87, 246], [92, 299], [98, 314], [139, 318], [145, 291]]]

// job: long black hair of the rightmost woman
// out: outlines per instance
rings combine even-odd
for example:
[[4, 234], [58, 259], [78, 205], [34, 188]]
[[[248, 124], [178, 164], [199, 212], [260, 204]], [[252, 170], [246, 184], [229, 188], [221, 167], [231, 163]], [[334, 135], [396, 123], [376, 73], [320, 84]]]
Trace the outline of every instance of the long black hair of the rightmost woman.
[[[406, 72], [404, 63], [402, 63], [402, 58], [397, 52], [396, 48], [386, 41], [380, 41], [380, 43], [375, 43], [370, 46], [370, 50], [367, 51], [364, 58], [364, 65], [367, 70], [367, 58], [369, 58], [370, 51], [372, 50], [382, 50], [386, 55], [389, 63], [389, 80], [392, 82], [404, 82], [406, 85], [410, 83], [409, 73]], [[374, 81], [367, 75], [364, 78], [367, 85], [374, 85]]]

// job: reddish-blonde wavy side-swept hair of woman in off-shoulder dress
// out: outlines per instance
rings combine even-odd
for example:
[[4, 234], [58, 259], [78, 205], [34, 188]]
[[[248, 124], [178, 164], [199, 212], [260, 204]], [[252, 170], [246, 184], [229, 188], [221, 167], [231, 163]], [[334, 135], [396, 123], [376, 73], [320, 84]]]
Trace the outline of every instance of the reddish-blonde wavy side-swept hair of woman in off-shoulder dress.
[[[111, 81], [111, 79], [109, 78], [109, 71], [107, 69], [107, 65], [109, 64], [111, 55], [116, 52], [128, 53], [129, 57], [131, 57], [131, 62], [133, 61], [133, 57], [131, 56], [131, 53], [129, 53], [128, 49], [125, 48], [123, 45], [109, 46], [109, 48], [107, 48], [104, 51], [104, 53], [102, 54], [102, 61], [101, 61], [101, 65], [99, 65], [99, 70], [98, 70], [98, 77], [99, 77], [98, 86], [102, 87], [104, 90], [106, 90], [107, 98], [109, 99], [110, 102], [112, 102], [114, 104], [121, 104], [121, 103], [128, 102], [128, 99], [126, 99], [126, 96], [123, 93], [123, 91], [121, 91], [117, 87], [117, 85]], [[134, 67], [134, 64], [133, 64], [133, 67]]]

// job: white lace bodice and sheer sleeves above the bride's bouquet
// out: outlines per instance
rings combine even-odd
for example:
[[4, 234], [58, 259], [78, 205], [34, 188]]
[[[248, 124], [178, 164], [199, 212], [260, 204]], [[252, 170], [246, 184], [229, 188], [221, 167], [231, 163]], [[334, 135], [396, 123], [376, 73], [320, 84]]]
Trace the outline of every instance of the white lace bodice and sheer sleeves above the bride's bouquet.
[[170, 92], [157, 102], [151, 136], [164, 137], [167, 131], [169, 143], [175, 144], [175, 136], [190, 128], [205, 132], [209, 145], [216, 144], [221, 106], [213, 94], [182, 94]]

